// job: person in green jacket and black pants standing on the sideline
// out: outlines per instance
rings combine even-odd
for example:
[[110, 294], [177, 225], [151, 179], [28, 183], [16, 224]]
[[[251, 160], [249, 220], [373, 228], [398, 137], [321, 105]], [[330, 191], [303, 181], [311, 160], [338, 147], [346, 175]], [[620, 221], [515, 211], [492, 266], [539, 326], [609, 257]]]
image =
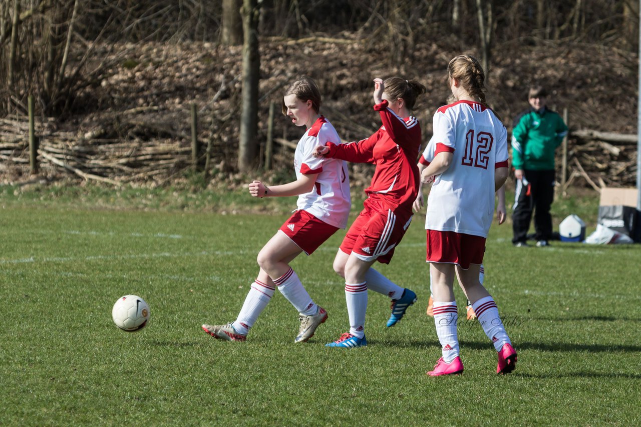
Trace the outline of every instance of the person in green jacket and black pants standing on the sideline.
[[546, 95], [542, 86], [529, 89], [531, 108], [515, 120], [512, 130], [512, 167], [516, 178], [512, 243], [515, 246], [528, 246], [532, 211], [537, 246], [549, 246], [552, 237], [554, 150], [567, 135], [567, 125], [558, 113], [545, 107]]

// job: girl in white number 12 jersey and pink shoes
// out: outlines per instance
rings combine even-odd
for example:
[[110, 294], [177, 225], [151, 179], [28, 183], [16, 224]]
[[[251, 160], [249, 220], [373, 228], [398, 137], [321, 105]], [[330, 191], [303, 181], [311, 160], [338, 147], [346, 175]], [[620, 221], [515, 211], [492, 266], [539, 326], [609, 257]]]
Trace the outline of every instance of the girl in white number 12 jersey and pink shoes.
[[494, 216], [494, 193], [508, 177], [507, 131], [485, 102], [485, 74], [476, 58], [459, 55], [447, 66], [457, 101], [434, 115], [435, 156], [422, 174], [434, 181], [428, 198], [427, 261], [434, 291], [434, 321], [442, 357], [431, 376], [459, 374], [454, 275], [498, 353], [497, 373], [517, 362], [494, 299], [479, 282], [485, 239]]

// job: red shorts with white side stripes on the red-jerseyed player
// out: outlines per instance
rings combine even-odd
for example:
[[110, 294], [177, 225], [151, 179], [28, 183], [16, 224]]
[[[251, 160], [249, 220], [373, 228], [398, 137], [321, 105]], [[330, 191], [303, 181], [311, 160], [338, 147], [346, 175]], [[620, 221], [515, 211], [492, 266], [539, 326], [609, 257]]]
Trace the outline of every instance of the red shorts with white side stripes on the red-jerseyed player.
[[410, 226], [412, 213], [392, 211], [379, 200], [367, 198], [365, 209], [358, 214], [347, 230], [340, 250], [354, 254], [363, 261], [389, 264], [394, 248], [401, 242]]

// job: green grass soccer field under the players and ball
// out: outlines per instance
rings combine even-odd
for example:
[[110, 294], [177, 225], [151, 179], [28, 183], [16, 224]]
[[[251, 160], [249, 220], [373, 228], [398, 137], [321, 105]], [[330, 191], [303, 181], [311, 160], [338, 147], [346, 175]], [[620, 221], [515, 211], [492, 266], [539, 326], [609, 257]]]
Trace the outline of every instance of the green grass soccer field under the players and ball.
[[[495, 375], [494, 348], [478, 324], [462, 322], [465, 373], [430, 378], [440, 348], [424, 314], [420, 216], [380, 267], [419, 301], [385, 328], [389, 302], [370, 294], [369, 346], [340, 350], [324, 344], [348, 328], [344, 285], [331, 270], [344, 232], [293, 262], [329, 312], [310, 342], [294, 344], [297, 312], [278, 292], [247, 342], [223, 342], [200, 325], [236, 318], [258, 249], [286, 211], [82, 206], [0, 200], [2, 425], [641, 423], [641, 245], [517, 250], [510, 225], [494, 225], [486, 285], [519, 352], [517, 370]], [[149, 303], [144, 330], [113, 325], [123, 294]]]

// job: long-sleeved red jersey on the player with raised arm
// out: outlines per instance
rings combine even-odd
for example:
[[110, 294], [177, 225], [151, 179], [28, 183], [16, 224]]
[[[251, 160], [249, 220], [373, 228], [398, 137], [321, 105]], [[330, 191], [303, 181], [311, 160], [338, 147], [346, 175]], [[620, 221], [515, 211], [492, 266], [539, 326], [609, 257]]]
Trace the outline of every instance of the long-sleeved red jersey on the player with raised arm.
[[397, 207], [412, 212], [418, 194], [420, 124], [416, 117], [401, 118], [388, 108], [387, 101], [374, 106], [383, 125], [372, 136], [358, 142], [336, 145], [331, 142], [328, 157], [353, 163], [376, 165], [368, 197], [376, 197], [394, 211]]

